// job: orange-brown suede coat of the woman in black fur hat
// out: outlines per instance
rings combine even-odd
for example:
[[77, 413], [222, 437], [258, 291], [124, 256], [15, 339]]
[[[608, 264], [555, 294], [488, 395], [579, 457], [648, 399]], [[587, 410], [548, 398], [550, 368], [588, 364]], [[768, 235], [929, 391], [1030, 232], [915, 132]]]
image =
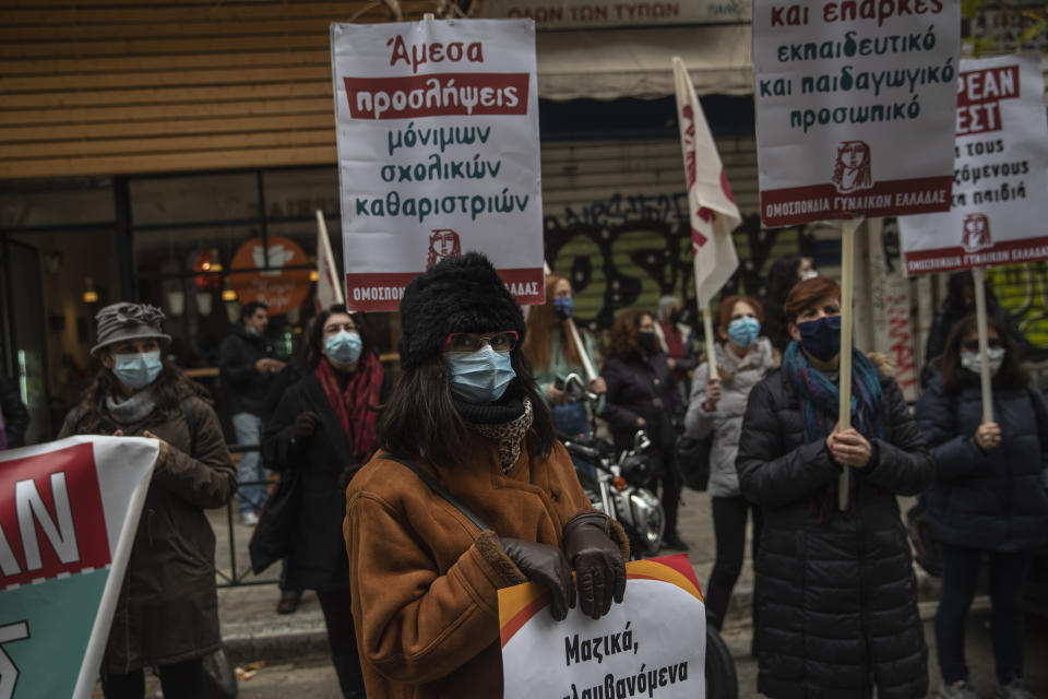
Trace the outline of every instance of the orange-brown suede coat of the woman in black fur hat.
[[498, 590], [525, 578], [496, 533], [559, 547], [564, 523], [590, 508], [560, 442], [544, 459], [525, 440], [503, 474], [495, 445], [474, 436], [464, 462], [418, 465], [495, 533], [381, 452], [349, 484], [344, 530], [369, 697], [501, 697]]

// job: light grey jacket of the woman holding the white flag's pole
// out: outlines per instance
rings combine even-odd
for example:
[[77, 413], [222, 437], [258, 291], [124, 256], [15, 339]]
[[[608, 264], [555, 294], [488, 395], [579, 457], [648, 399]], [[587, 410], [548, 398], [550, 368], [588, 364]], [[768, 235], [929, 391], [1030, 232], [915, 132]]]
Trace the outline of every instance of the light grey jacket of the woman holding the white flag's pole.
[[[736, 369], [724, 345], [716, 345], [715, 352], [717, 367]], [[720, 402], [712, 413], [702, 408], [702, 404], [706, 401], [710, 365], [704, 362], [695, 369], [684, 427], [688, 436], [693, 439], [703, 439], [711, 431], [713, 433], [713, 446], [710, 450], [711, 497], [730, 498], [739, 495], [739, 476], [735, 470], [735, 458], [739, 453], [746, 401], [750, 395], [750, 389], [764, 378], [774, 362], [772, 343], [767, 337], [759, 337], [753, 348], [747, 354], [746, 366], [735, 371], [731, 381], [720, 383]]]

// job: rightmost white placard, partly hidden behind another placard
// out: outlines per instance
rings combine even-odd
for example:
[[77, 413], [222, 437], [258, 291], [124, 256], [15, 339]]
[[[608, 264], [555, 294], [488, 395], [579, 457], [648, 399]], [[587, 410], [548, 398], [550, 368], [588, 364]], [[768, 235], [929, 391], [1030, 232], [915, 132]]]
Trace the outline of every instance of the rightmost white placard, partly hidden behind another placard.
[[907, 274], [1048, 259], [1040, 56], [961, 61], [953, 208], [898, 220]]

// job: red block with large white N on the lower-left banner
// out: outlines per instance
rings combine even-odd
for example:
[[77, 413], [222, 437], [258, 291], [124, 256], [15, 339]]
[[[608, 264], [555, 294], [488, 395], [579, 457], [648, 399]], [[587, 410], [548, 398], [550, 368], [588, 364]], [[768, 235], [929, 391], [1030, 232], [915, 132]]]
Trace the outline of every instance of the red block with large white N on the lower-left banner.
[[109, 565], [94, 447], [75, 445], [0, 464], [0, 528], [17, 568], [0, 569], [0, 590]]

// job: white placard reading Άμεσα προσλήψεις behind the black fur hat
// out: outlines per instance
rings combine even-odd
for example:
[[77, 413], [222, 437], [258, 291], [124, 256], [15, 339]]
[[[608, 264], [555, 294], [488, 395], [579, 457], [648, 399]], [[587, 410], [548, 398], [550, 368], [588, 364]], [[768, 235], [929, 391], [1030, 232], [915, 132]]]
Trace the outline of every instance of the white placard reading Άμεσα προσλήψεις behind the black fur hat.
[[534, 22], [332, 24], [331, 51], [348, 307], [467, 250], [544, 303]]

